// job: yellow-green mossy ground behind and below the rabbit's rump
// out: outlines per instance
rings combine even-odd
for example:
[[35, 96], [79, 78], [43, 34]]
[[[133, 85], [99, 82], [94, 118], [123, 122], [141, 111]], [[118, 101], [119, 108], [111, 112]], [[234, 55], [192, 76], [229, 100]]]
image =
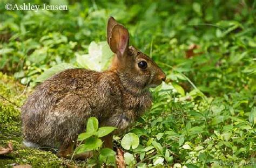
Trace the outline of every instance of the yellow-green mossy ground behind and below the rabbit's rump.
[[[49, 151], [27, 148], [23, 145], [21, 130], [21, 111], [18, 107], [25, 101], [29, 88], [15, 81], [14, 78], [0, 73], [0, 146], [12, 142], [14, 152], [0, 155], [0, 167], [12, 167], [13, 164], [29, 164], [33, 167], [67, 167], [77, 165], [83, 167], [84, 162], [70, 162], [60, 159]], [[24, 94], [25, 93], [25, 94]], [[14, 104], [15, 103], [15, 104]]]

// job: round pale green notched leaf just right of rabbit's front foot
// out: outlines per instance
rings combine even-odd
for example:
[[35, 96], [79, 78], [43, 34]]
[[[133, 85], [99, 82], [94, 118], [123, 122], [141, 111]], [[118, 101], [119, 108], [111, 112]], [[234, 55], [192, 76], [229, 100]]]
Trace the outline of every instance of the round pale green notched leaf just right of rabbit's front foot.
[[139, 145], [139, 137], [130, 132], [123, 137], [121, 145], [126, 150], [130, 150], [131, 147], [136, 149]]

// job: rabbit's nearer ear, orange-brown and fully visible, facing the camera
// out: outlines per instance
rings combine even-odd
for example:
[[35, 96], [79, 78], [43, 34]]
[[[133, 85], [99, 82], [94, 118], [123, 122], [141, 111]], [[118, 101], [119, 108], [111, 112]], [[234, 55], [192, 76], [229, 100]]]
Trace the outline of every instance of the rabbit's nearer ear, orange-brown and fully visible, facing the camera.
[[118, 57], [127, 55], [129, 46], [129, 32], [120, 25], [114, 25], [111, 31], [111, 37], [109, 39], [109, 46], [113, 53], [116, 53]]

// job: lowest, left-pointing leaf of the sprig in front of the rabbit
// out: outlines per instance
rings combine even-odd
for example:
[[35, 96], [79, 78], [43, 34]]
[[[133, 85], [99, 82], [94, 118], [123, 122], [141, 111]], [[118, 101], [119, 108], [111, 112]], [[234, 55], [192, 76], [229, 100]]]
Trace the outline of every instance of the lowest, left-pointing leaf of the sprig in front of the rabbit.
[[102, 146], [102, 140], [97, 137], [90, 137], [84, 141], [84, 144], [78, 146], [76, 153], [97, 150], [100, 146]]

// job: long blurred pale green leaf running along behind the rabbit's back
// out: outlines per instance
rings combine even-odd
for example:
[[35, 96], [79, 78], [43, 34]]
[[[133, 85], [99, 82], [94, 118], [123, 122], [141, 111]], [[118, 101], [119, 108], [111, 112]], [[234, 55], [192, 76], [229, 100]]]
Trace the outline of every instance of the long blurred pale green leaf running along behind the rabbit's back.
[[72, 69], [75, 68], [75, 66], [68, 64], [68, 63], [61, 63], [58, 65], [55, 65], [46, 71], [44, 71], [41, 75], [39, 75], [36, 79], [36, 82], [43, 82], [44, 80], [50, 78], [52, 75], [55, 75], [59, 72], [62, 72], [66, 69]]

